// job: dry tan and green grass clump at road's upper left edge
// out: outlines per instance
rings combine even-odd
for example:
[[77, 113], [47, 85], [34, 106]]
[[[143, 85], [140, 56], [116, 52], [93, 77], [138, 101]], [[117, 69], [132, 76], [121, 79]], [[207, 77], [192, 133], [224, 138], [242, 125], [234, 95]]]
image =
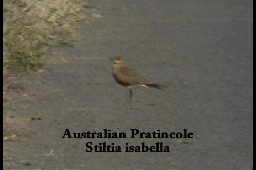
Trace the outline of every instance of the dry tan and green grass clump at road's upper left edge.
[[3, 59], [27, 72], [43, 66], [48, 46], [72, 45], [74, 22], [89, 21], [82, 0], [5, 0]]

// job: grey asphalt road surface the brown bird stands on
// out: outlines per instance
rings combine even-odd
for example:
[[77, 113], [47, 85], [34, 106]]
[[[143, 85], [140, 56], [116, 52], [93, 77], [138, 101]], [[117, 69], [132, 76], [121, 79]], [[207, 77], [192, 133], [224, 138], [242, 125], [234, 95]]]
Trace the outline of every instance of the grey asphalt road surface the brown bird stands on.
[[[51, 49], [55, 63], [19, 76], [26, 89], [6, 95], [9, 126], [40, 139], [4, 141], [4, 169], [253, 169], [253, 1], [89, 5], [97, 18], [81, 24], [79, 44]], [[114, 56], [167, 87], [133, 89], [127, 108], [111, 75]], [[126, 138], [88, 138], [104, 129]], [[131, 138], [130, 129], [148, 134]], [[157, 130], [179, 138], [153, 138]], [[121, 152], [95, 152], [105, 144]], [[170, 152], [151, 152], [160, 145]], [[155, 149], [132, 152], [145, 146]]]

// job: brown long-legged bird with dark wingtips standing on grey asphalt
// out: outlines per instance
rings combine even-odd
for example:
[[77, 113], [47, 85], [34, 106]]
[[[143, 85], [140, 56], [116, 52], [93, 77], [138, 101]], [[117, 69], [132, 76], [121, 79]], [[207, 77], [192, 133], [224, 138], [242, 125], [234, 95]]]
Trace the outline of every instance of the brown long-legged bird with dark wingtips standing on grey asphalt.
[[114, 65], [112, 66], [113, 77], [117, 81], [117, 83], [121, 84], [124, 87], [129, 87], [130, 100], [132, 99], [131, 87], [155, 87], [161, 90], [164, 90], [161, 87], [166, 87], [147, 80], [146, 78], [142, 77], [142, 75], [135, 72], [135, 70], [126, 66], [124, 64], [124, 58], [121, 56], [110, 58], [110, 60], [114, 63]]

